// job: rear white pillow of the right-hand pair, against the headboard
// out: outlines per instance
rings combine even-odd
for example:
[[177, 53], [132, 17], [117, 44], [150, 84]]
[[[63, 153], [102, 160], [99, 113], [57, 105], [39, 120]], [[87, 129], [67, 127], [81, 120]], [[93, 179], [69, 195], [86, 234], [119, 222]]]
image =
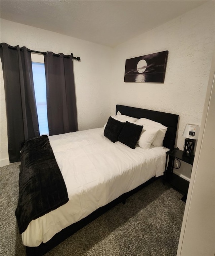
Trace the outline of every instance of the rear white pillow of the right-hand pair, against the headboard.
[[164, 126], [161, 123], [149, 120], [147, 118], [140, 118], [137, 120], [137, 123], [143, 125], [143, 127], [145, 127], [145, 128], [146, 128], [146, 125], [153, 127], [153, 128], [159, 128], [159, 132], [157, 133], [154, 141], [152, 142], [152, 145], [154, 145], [156, 147], [162, 146], [163, 140], [164, 140], [164, 137], [165, 137], [165, 134], [167, 131], [166, 126]]

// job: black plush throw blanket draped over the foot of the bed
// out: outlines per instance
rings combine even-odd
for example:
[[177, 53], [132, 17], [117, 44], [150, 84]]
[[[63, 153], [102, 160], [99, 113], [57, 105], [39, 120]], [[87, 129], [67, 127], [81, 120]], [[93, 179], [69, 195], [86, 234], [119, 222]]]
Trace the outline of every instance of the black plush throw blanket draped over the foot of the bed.
[[19, 198], [15, 211], [19, 233], [32, 220], [68, 202], [68, 193], [47, 135], [26, 140], [21, 153]]

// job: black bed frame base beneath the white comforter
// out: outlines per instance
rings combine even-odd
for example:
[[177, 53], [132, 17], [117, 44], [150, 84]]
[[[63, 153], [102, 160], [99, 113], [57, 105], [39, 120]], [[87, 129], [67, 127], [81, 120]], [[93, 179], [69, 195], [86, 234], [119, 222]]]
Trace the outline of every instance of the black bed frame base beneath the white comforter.
[[81, 228], [85, 227], [87, 224], [89, 224], [90, 222], [94, 221], [95, 219], [97, 219], [99, 216], [101, 216], [102, 214], [104, 214], [106, 211], [110, 210], [111, 208], [113, 208], [114, 206], [116, 206], [119, 203], [123, 203], [125, 204], [126, 199], [133, 195], [134, 193], [138, 192], [139, 190], [145, 188], [146, 186], [148, 186], [150, 183], [154, 182], [156, 179], [159, 179], [152, 177], [151, 179], [149, 179], [148, 181], [146, 181], [145, 183], [141, 184], [139, 187], [119, 196], [117, 199], [113, 200], [112, 202], [98, 208], [97, 210], [95, 210], [94, 212], [92, 212], [90, 215], [88, 215], [86, 218], [70, 225], [67, 228], [62, 229], [60, 232], [58, 232], [57, 234], [55, 234], [49, 241], [47, 241], [45, 244], [41, 243], [39, 246], [37, 247], [28, 247], [26, 246], [26, 255], [27, 256], [42, 256], [45, 253], [49, 252], [51, 249], [53, 249], [54, 247], [56, 247], [57, 245], [59, 245], [62, 241], [64, 241], [65, 239], [67, 239], [68, 237], [70, 237], [71, 235], [73, 235], [74, 233], [76, 233], [78, 230], [80, 230]]

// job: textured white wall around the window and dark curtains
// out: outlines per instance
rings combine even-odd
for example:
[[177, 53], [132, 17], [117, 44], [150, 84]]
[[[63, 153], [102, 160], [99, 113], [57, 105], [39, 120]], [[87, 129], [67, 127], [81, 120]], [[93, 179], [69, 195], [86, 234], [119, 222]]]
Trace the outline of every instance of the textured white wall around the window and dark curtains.
[[[3, 19], [1, 19], [1, 42], [6, 42], [11, 46], [26, 46], [37, 51], [63, 52], [66, 55], [72, 52], [74, 56], [80, 56], [80, 62], [74, 60], [79, 130], [104, 125], [110, 108], [109, 86], [113, 52], [111, 48]], [[3, 166], [9, 164], [9, 160], [2, 67], [0, 67], [0, 71], [0, 160], [1, 166]]]

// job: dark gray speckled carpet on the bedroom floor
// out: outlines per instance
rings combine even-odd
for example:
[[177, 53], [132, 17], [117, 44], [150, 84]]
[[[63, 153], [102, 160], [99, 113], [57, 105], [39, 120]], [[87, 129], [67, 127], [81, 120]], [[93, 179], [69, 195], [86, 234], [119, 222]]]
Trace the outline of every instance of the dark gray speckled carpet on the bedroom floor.
[[[15, 209], [20, 163], [1, 168], [0, 255], [25, 255]], [[174, 256], [183, 219], [182, 195], [162, 179], [76, 232], [47, 256]]]

